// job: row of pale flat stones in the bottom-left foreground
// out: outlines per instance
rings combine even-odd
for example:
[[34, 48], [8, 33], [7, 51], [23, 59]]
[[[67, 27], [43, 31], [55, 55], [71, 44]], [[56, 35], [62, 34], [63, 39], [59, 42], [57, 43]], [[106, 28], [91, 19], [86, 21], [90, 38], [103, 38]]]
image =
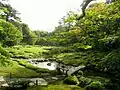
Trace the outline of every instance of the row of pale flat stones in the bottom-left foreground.
[[0, 76], [0, 87], [17, 87], [25, 82], [28, 82], [29, 86], [48, 85], [47, 81], [43, 78], [4, 78]]

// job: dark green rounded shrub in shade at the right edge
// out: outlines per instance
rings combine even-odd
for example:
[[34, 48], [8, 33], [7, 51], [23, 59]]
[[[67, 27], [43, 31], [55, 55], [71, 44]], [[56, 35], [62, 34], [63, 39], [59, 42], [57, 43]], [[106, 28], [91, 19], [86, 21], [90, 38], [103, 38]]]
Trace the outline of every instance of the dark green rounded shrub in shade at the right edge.
[[103, 60], [100, 62], [101, 69], [105, 72], [110, 72], [114, 74], [120, 73], [120, 50], [114, 50], [110, 52]]

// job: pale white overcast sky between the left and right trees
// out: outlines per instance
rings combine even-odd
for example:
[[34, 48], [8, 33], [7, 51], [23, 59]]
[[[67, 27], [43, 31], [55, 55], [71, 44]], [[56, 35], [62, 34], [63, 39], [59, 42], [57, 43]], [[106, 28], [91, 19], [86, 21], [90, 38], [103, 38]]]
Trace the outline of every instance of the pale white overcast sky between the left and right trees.
[[[104, 1], [104, 0], [98, 0]], [[69, 10], [80, 10], [82, 0], [10, 0], [32, 30], [53, 31]]]

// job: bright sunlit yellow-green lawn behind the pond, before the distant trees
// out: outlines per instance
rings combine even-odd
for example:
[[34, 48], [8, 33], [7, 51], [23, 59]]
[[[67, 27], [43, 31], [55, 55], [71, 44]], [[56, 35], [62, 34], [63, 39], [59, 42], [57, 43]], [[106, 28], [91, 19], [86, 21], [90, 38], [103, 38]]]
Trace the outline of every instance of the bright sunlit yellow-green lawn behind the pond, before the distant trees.
[[28, 57], [28, 58], [37, 58], [37, 57], [43, 57], [43, 52], [48, 52], [50, 48], [53, 47], [41, 47], [41, 46], [13, 46], [6, 48], [12, 57]]

